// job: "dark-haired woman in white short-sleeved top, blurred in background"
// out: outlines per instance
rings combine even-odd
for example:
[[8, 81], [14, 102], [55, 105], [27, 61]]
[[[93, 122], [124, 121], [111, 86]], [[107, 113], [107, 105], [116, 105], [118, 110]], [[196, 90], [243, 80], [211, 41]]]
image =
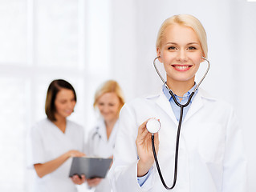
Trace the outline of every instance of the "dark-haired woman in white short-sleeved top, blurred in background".
[[76, 94], [65, 80], [51, 82], [47, 90], [44, 118], [32, 127], [28, 137], [29, 162], [37, 174], [34, 191], [75, 192], [84, 176], [69, 178], [72, 157], [82, 157], [83, 127], [67, 119], [73, 112]]

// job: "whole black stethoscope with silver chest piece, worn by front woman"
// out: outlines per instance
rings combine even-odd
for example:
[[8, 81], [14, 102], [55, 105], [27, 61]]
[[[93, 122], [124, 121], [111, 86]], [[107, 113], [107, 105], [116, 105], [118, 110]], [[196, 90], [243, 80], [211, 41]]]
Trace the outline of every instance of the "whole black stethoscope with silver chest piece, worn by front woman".
[[[157, 57], [157, 58], [160, 58], [160, 56]], [[157, 157], [156, 157], [156, 149], [155, 149], [155, 143], [154, 143], [154, 134], [156, 134], [161, 129], [161, 122], [159, 122], [156, 118], [151, 118], [151, 119], [148, 120], [148, 122], [146, 124], [146, 127], [147, 127], [148, 132], [150, 132], [152, 134], [152, 137], [151, 137], [152, 138], [152, 152], [153, 152], [153, 155], [154, 155], [154, 158], [155, 158], [156, 168], [157, 168], [158, 174], [159, 174], [159, 176], [161, 178], [161, 182], [165, 186], [165, 189], [172, 190], [174, 188], [174, 186], [176, 185], [176, 182], [177, 182], [177, 164], [178, 164], [178, 153], [179, 153], [179, 142], [180, 142], [180, 134], [181, 134], [181, 122], [182, 122], [182, 117], [183, 117], [183, 109], [184, 109], [184, 107], [189, 106], [189, 102], [191, 101], [193, 95], [197, 91], [198, 87], [201, 85], [201, 82], [205, 79], [205, 76], [206, 76], [206, 74], [209, 71], [209, 66], [210, 65], [209, 65], [209, 61], [206, 58], [202, 57], [203, 59], [205, 59], [206, 62], [208, 62], [207, 70], [205, 71], [204, 76], [201, 78], [200, 82], [197, 84], [195, 89], [189, 95], [188, 102], [186, 102], [185, 104], [182, 105], [181, 103], [177, 102], [177, 99], [175, 98], [175, 96], [173, 94], [173, 91], [169, 89], [169, 86], [167, 86], [167, 84], [165, 82], [165, 79], [161, 76], [161, 73], [157, 69], [157, 67], [156, 67], [156, 59], [157, 58], [155, 58], [154, 61], [153, 61], [154, 67], [156, 69], [156, 73], [161, 78], [161, 80], [164, 83], [165, 87], [169, 90], [169, 94], [172, 95], [173, 100], [176, 103], [176, 105], [181, 107], [180, 120], [179, 120], [179, 124], [178, 124], [177, 138], [176, 138], [175, 162], [174, 162], [175, 163], [175, 166], [174, 166], [174, 178], [173, 178], [173, 186], [171, 186], [171, 187], [169, 187], [169, 186], [167, 186], [165, 184], [165, 180], [164, 180], [164, 178], [163, 178], [163, 176], [161, 174], [161, 169], [160, 169]]]

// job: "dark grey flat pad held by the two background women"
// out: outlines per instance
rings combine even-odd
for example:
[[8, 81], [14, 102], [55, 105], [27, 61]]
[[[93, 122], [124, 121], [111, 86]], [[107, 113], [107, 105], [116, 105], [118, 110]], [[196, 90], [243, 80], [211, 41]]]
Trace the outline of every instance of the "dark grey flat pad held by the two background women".
[[105, 178], [112, 158], [73, 158], [69, 177], [84, 174], [86, 178]]

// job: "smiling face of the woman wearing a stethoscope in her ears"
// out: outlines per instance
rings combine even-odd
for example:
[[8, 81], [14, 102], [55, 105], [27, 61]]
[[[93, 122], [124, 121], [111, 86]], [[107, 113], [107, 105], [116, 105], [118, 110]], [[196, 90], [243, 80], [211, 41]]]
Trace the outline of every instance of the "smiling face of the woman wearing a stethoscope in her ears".
[[190, 82], [203, 62], [203, 52], [197, 34], [189, 26], [174, 24], [165, 29], [159, 61], [164, 63], [167, 83]]

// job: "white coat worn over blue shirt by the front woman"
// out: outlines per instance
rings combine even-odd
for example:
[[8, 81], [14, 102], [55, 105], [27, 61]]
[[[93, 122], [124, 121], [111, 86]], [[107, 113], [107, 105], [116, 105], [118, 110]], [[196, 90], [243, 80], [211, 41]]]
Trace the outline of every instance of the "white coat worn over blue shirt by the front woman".
[[[125, 104], [116, 135], [114, 163], [109, 172], [113, 191], [168, 191], [155, 164], [140, 187], [137, 182], [136, 137], [148, 118], [159, 118], [157, 154], [165, 183], [173, 185], [178, 122], [165, 94]], [[177, 184], [173, 192], [246, 192], [246, 158], [242, 130], [226, 102], [198, 90], [181, 126]]]

